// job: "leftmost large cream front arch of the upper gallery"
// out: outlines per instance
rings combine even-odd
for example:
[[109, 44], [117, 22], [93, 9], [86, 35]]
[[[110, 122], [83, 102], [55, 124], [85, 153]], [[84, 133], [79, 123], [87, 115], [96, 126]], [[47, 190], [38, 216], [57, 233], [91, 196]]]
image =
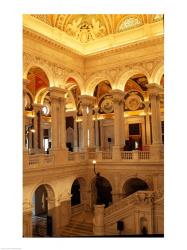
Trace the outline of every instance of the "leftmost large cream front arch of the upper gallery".
[[24, 79], [27, 79], [27, 74], [28, 74], [29, 70], [31, 68], [33, 68], [33, 67], [37, 67], [37, 68], [42, 69], [45, 72], [45, 74], [46, 74], [46, 76], [47, 76], [47, 78], [49, 80], [49, 86], [50, 87], [55, 86], [54, 74], [53, 74], [52, 70], [50, 69], [50, 67], [47, 64], [40, 64], [40, 63], [35, 62], [35, 61], [31, 62], [25, 68], [24, 73], [23, 73], [23, 78]]

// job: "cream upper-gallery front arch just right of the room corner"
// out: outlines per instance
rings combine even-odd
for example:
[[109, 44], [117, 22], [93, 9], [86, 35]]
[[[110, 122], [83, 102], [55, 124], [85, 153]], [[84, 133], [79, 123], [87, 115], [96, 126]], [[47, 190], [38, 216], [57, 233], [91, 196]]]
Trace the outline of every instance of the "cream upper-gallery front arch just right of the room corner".
[[96, 73], [86, 81], [86, 95], [93, 96], [95, 87], [102, 81], [108, 81], [113, 89], [112, 79], [107, 74]]

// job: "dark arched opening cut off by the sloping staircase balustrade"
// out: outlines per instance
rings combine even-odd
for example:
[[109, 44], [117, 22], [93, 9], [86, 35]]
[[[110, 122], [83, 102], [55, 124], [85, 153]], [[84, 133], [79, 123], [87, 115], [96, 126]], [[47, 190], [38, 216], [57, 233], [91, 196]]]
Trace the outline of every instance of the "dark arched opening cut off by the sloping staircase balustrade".
[[123, 185], [123, 197], [127, 197], [137, 191], [148, 190], [148, 184], [140, 178], [131, 178]]

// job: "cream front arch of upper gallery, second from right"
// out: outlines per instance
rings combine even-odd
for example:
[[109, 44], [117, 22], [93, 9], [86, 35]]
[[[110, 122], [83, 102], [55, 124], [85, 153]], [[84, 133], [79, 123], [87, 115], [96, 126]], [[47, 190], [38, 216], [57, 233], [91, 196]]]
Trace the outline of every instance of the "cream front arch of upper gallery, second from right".
[[144, 67], [134, 67], [133, 69], [130, 70], [125, 70], [123, 71], [116, 79], [116, 89], [120, 89], [122, 91], [124, 91], [125, 85], [127, 83], [127, 81], [129, 80], [129, 78], [131, 78], [134, 75], [137, 74], [143, 74], [147, 77], [147, 81], [148, 83], [150, 82], [150, 74], [149, 72], [144, 68]]

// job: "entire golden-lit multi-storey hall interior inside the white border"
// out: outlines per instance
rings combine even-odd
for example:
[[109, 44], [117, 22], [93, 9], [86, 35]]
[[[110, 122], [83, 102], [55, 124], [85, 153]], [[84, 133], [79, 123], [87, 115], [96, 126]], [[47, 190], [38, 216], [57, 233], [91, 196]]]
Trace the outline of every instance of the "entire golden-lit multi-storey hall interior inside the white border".
[[23, 16], [23, 236], [163, 235], [163, 15]]

